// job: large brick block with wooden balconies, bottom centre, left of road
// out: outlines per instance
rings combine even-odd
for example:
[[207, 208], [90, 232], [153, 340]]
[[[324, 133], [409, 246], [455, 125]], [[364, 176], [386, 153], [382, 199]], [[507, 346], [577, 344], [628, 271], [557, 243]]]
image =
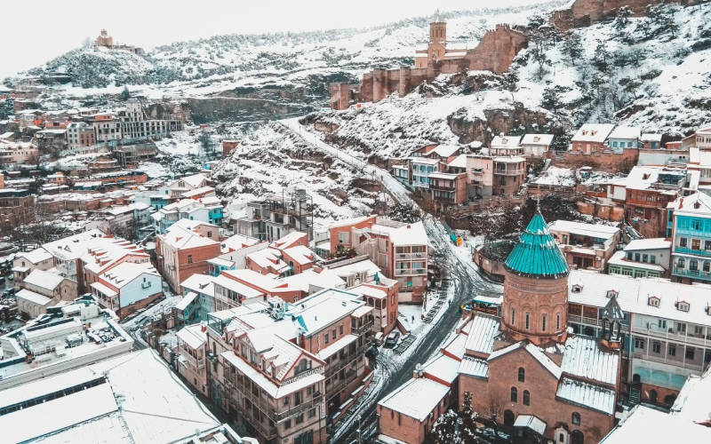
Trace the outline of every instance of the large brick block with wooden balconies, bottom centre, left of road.
[[368, 377], [371, 308], [335, 289], [260, 305], [208, 315], [212, 399], [260, 442], [324, 443]]

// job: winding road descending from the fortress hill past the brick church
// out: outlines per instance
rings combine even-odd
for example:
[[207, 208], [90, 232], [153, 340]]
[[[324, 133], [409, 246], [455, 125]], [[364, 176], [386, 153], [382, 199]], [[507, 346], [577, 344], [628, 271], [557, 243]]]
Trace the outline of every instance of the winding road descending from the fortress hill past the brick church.
[[[397, 202], [415, 208], [418, 207], [417, 203], [411, 199], [403, 184], [392, 177], [386, 170], [366, 163], [352, 155], [345, 154], [338, 148], [324, 143], [318, 139], [316, 134], [307, 131], [306, 128], [301, 126], [298, 118], [279, 121], [279, 123], [283, 125], [284, 128], [292, 131], [294, 135], [306, 141], [309, 145], [340, 159], [340, 161], [344, 163], [358, 168], [363, 174], [379, 179], [380, 183], [387, 189], [387, 192], [391, 194]], [[384, 383], [378, 387], [377, 392], [369, 397], [369, 400], [363, 402], [359, 411], [355, 412], [355, 415], [352, 416], [353, 418], [357, 416], [362, 417], [363, 429], [377, 420], [377, 401], [382, 399], [387, 393], [395, 390], [396, 387], [407, 382], [412, 377], [412, 371], [415, 369], [415, 366], [418, 363], [427, 361], [427, 359], [439, 349], [444, 339], [456, 326], [457, 321], [459, 321], [459, 310], [457, 308], [459, 305], [470, 301], [475, 294], [494, 296], [500, 295], [503, 291], [499, 284], [492, 283], [483, 278], [473, 264], [468, 264], [459, 258], [452, 248], [449, 235], [439, 220], [427, 215], [427, 217], [423, 218], [422, 222], [429, 236], [429, 240], [433, 244], [434, 250], [437, 254], [441, 255], [443, 260], [449, 265], [445, 272], [449, 274], [447, 277], [451, 279], [455, 286], [454, 304], [446, 307], [446, 311], [439, 318], [439, 321], [437, 321], [435, 328], [429, 330], [427, 337], [414, 345], [415, 348], [413, 353], [411, 353], [411, 358], [404, 361], [402, 366], [396, 367], [394, 363], [387, 361], [387, 355], [381, 353], [380, 356], [382, 358], [379, 358], [378, 365], [385, 367], [383, 371]], [[358, 421], [352, 420], [350, 424], [342, 426], [336, 432], [332, 442], [337, 444], [349, 444], [354, 442], [357, 438], [357, 429]]]

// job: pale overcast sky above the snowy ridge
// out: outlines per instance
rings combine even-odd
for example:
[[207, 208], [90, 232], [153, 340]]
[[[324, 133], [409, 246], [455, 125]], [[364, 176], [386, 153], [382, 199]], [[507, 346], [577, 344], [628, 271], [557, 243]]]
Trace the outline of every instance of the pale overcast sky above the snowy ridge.
[[363, 28], [442, 11], [543, 0], [74, 0], [3, 1], [4, 75], [36, 67], [106, 28], [114, 42], [151, 47], [220, 34]]

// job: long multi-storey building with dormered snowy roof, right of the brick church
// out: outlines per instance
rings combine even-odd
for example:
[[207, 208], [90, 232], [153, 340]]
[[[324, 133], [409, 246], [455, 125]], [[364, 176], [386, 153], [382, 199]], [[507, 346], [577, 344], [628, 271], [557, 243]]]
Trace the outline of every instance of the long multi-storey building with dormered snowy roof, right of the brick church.
[[684, 381], [711, 362], [711, 292], [665, 279], [571, 271], [568, 319], [574, 332], [600, 337], [603, 307], [623, 315], [623, 380], [634, 402], [670, 407]]

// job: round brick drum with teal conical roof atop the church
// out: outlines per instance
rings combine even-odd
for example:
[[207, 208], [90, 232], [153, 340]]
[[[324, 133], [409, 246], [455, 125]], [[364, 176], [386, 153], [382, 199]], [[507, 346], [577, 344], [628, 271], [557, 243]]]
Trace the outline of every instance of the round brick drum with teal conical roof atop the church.
[[568, 327], [570, 268], [540, 210], [508, 256], [502, 328], [515, 340], [563, 344]]

